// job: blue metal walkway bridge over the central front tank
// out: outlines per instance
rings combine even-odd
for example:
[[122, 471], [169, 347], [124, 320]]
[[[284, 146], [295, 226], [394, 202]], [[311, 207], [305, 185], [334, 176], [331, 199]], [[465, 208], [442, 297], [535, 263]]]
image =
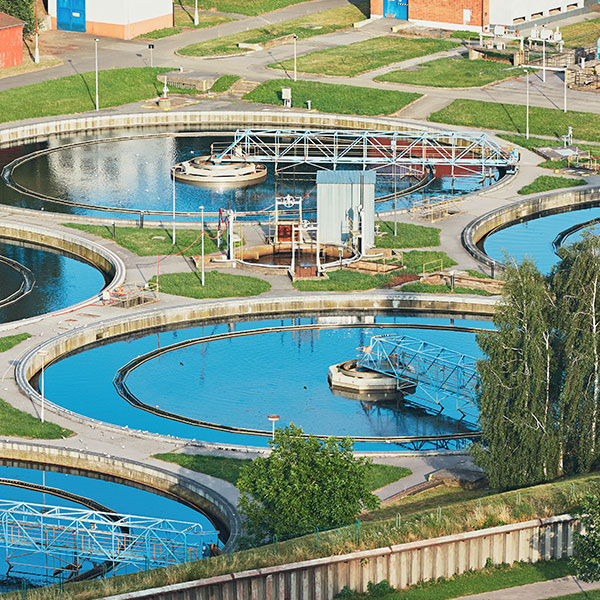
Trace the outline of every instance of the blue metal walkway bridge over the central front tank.
[[462, 418], [475, 417], [475, 396], [479, 384], [477, 359], [406, 335], [376, 335], [362, 348], [358, 365], [397, 380], [397, 389], [410, 394], [417, 384], [421, 398], [448, 409], [444, 401], [455, 399]]

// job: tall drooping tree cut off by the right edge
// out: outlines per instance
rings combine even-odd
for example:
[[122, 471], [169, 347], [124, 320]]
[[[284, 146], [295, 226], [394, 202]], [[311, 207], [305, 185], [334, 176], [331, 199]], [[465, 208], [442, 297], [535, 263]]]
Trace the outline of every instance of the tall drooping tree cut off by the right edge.
[[552, 274], [561, 332], [559, 427], [568, 473], [589, 471], [599, 452], [600, 240], [593, 234], [560, 250]]

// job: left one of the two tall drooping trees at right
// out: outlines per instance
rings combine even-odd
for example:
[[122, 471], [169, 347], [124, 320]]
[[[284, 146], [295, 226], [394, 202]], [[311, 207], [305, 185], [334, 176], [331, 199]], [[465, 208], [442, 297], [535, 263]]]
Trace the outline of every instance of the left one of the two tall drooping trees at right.
[[481, 442], [473, 447], [493, 488], [513, 488], [554, 479], [560, 444], [556, 401], [555, 305], [547, 283], [530, 260], [508, 262], [495, 332], [477, 342]]

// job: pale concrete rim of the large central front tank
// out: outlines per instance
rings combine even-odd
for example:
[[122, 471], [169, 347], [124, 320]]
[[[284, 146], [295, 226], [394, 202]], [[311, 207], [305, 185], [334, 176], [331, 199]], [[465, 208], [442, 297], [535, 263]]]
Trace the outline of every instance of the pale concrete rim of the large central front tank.
[[[82, 325], [61, 333], [41, 344], [30, 348], [15, 365], [15, 379], [21, 391], [36, 405], [41, 406], [42, 396], [30, 383], [33, 376], [50, 363], [59, 360], [69, 353], [87, 346], [103, 343], [133, 333], [139, 334], [165, 326], [177, 326], [243, 317], [272, 317], [274, 315], [293, 315], [299, 313], [336, 314], [340, 312], [357, 312], [374, 314], [378, 312], [428, 312], [446, 315], [473, 315], [490, 318], [494, 312], [496, 300], [484, 296], [477, 298], [453, 296], [440, 298], [435, 294], [407, 293], [361, 293], [361, 294], [319, 294], [284, 298], [253, 298], [229, 300], [221, 302], [195, 303], [168, 309], [154, 308], [131, 316], [107, 319], [89, 325]], [[40, 351], [44, 351], [41, 354]], [[91, 417], [65, 409], [44, 399], [46, 410], [86, 425], [93, 424], [106, 431], [127, 433], [134, 437], [194, 444], [211, 448], [221, 448], [242, 452], [256, 452], [255, 447], [235, 444], [218, 444], [190, 440], [176, 436], [151, 433], [130, 429], [99, 421]], [[264, 451], [264, 448], [258, 449]]]

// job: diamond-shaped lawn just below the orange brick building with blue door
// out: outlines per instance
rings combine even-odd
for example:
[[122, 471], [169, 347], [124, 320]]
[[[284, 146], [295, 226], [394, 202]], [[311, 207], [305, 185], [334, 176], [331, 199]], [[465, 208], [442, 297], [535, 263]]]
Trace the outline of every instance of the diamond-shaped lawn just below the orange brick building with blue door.
[[[354, 77], [391, 63], [427, 56], [459, 45], [460, 42], [455, 40], [385, 36], [300, 56], [297, 59], [297, 69], [302, 73]], [[294, 61], [290, 59], [269, 66], [289, 71], [294, 68]]]

